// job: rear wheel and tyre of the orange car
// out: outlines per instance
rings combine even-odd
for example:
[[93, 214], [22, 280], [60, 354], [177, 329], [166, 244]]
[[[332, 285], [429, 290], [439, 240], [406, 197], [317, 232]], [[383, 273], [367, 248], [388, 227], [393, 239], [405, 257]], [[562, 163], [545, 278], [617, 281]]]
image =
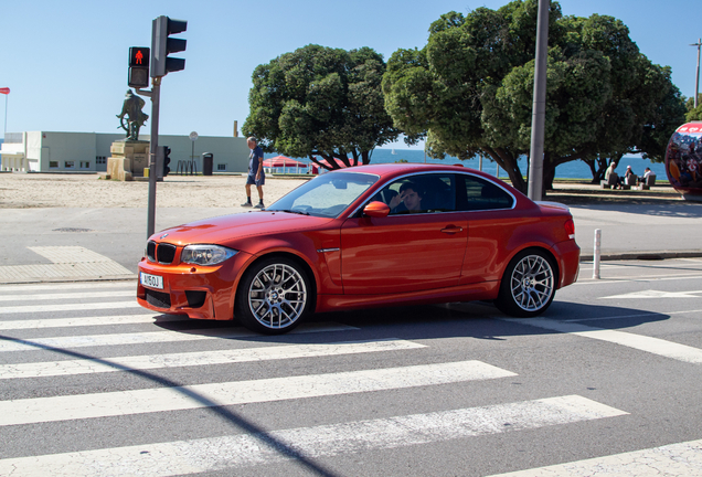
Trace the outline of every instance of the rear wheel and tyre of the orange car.
[[538, 248], [518, 253], [504, 269], [494, 305], [518, 318], [541, 315], [555, 296], [557, 273], [553, 258]]

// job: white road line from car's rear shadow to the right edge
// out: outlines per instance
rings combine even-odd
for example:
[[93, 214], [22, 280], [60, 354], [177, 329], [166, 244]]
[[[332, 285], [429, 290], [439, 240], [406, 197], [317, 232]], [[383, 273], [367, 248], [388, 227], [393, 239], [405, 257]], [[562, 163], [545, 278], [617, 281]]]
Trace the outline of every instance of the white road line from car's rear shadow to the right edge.
[[667, 341], [660, 338], [651, 338], [624, 331], [588, 327], [586, 325], [578, 325], [573, 322], [556, 321], [546, 318], [506, 318], [506, 320], [563, 333], [593, 338], [600, 341], [608, 341], [689, 363], [702, 363], [702, 350], [685, 344]]

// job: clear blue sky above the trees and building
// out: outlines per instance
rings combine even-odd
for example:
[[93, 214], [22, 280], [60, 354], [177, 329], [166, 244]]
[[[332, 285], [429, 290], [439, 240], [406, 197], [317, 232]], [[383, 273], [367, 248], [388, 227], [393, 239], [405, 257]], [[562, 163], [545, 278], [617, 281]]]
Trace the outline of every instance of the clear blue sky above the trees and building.
[[[162, 14], [188, 21], [188, 31], [178, 35], [188, 40], [188, 49], [173, 55], [187, 60], [185, 70], [162, 82], [160, 134], [231, 136], [234, 120], [241, 130], [248, 115], [251, 75], [258, 64], [310, 43], [370, 46], [387, 60], [400, 47], [423, 47], [429, 24], [443, 13], [506, 3], [8, 1], [0, 22], [0, 87], [11, 88], [7, 130], [118, 131], [115, 115], [127, 91], [128, 49], [149, 46], [151, 21]], [[562, 0], [561, 7], [564, 14], [620, 19], [644, 54], [672, 67], [682, 94], [694, 94], [696, 47], [689, 44], [702, 36], [695, 2]], [[4, 99], [0, 96], [0, 108]], [[150, 113], [148, 100], [145, 112]]]

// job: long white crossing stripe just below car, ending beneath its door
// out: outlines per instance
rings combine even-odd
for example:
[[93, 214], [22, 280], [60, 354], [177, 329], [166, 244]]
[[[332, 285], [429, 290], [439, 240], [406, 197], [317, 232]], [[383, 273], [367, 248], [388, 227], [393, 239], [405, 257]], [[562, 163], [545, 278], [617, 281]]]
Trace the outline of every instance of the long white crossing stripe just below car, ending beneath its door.
[[46, 378], [195, 365], [231, 364], [252, 361], [359, 354], [426, 348], [412, 341], [390, 338], [374, 341], [342, 341], [288, 344], [236, 350], [196, 351], [168, 354], [131, 356], [109, 359], [83, 359], [52, 362], [1, 364], [0, 379]]

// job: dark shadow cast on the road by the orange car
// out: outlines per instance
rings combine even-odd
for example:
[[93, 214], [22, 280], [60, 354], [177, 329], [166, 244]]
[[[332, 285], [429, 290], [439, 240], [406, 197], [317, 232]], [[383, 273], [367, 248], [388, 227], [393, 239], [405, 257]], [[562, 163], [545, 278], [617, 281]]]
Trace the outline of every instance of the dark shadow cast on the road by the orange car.
[[[598, 329], [624, 329], [647, 322], [662, 321], [669, 315], [630, 307], [554, 301], [538, 318], [587, 326]], [[341, 325], [325, 331], [305, 332], [306, 327]], [[155, 325], [171, 331], [272, 343], [315, 343], [371, 339], [437, 339], [555, 335], [560, 331], [530, 325], [528, 320], [512, 318], [487, 301], [451, 303], [390, 308], [371, 308], [352, 311], [316, 314], [298, 328], [297, 332], [266, 336], [248, 332], [236, 321], [170, 320], [159, 317]], [[238, 332], [241, 331], [241, 332]]]

